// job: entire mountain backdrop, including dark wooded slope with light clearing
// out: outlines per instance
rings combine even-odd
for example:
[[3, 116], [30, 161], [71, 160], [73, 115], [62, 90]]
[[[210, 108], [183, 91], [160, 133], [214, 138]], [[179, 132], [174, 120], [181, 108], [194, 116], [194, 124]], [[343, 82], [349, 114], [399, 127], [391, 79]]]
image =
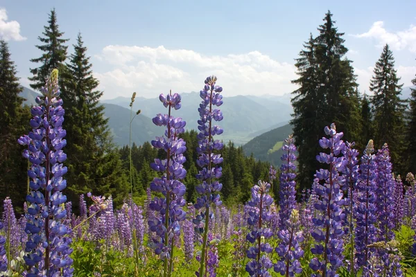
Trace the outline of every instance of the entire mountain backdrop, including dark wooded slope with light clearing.
[[[404, 87], [402, 98], [410, 97], [410, 87]], [[21, 96], [26, 98], [26, 105], [35, 105], [35, 98], [39, 95], [35, 91], [23, 87]], [[197, 92], [181, 93], [182, 108], [173, 111], [173, 116], [182, 117], [187, 121], [187, 128], [196, 129], [199, 118], [198, 107], [200, 96]], [[101, 101], [105, 107], [105, 117], [109, 119], [114, 143], [126, 145], [129, 141], [130, 127], [130, 98], [117, 97]], [[151, 118], [156, 114], [166, 113], [159, 98], [135, 99], [135, 111], [141, 109], [132, 123], [132, 141], [138, 145], [151, 141], [161, 135], [162, 127], [153, 125]], [[256, 159], [269, 161], [275, 166], [281, 164], [281, 145], [292, 132], [288, 125], [293, 109], [291, 95], [283, 96], [231, 96], [224, 98], [220, 107], [224, 119], [218, 125], [223, 127], [221, 135], [223, 141], [233, 141], [236, 145], [243, 145], [246, 154], [254, 154]]]

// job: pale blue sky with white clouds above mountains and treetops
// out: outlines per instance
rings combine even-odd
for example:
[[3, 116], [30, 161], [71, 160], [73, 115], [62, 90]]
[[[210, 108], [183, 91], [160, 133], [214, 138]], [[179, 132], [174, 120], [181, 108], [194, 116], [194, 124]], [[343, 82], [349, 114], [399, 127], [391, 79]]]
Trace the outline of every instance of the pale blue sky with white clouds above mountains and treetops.
[[[55, 8], [69, 52], [80, 31], [103, 98], [199, 91], [218, 76], [225, 94], [281, 95], [295, 89], [294, 59], [327, 10], [345, 33], [361, 91], [389, 43], [401, 81], [416, 73], [416, 1], [15, 1], [0, 3], [0, 35], [21, 83], [48, 13]], [[313, 3], [319, 2], [319, 3]]]

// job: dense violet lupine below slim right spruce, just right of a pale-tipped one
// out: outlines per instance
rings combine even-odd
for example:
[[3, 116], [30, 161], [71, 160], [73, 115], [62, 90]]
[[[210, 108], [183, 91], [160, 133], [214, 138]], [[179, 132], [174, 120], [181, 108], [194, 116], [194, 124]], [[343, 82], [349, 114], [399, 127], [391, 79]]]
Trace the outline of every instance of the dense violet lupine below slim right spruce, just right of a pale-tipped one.
[[394, 238], [392, 229], [395, 227], [394, 189], [395, 181], [392, 179], [392, 163], [387, 143], [384, 143], [376, 154], [377, 166], [377, 221], [379, 222], [379, 241], [388, 242]]

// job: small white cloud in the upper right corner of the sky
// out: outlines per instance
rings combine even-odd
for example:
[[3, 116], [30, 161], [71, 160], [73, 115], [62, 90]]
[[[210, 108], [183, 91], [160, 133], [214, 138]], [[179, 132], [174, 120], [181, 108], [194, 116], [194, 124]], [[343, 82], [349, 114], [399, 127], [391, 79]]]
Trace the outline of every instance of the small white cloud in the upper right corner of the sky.
[[366, 33], [354, 37], [370, 37], [378, 41], [377, 46], [389, 44], [393, 50], [408, 49], [416, 53], [416, 26], [410, 25], [407, 30], [390, 33], [383, 27], [383, 21], [376, 21]]

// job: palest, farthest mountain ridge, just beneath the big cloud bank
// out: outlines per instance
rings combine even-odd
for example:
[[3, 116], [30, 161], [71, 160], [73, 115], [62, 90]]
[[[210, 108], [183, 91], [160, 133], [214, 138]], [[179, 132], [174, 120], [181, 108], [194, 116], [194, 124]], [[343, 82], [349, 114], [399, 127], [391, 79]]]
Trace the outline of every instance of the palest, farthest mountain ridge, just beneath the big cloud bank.
[[[182, 117], [187, 121], [187, 129], [197, 129], [199, 118], [198, 107], [201, 102], [199, 93], [180, 93], [182, 107], [173, 111], [173, 116]], [[221, 135], [223, 141], [234, 141], [236, 145], [248, 143], [263, 132], [284, 125], [291, 119], [293, 109], [291, 105], [279, 102], [280, 96], [232, 96], [224, 98], [224, 104], [220, 109], [224, 119], [218, 125], [223, 127]], [[281, 98], [281, 97], [280, 97]], [[128, 107], [130, 98], [118, 97], [102, 102]], [[141, 109], [141, 114], [153, 118], [156, 114], [166, 113], [166, 109], [155, 98], [136, 98], [135, 109]]]

